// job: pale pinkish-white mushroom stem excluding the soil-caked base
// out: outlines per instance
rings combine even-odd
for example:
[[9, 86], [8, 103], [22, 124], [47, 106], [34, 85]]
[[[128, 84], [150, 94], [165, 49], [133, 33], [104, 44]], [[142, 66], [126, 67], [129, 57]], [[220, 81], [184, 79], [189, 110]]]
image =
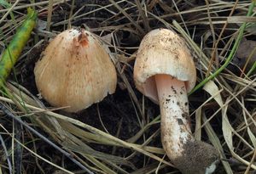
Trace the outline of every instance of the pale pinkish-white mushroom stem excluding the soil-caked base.
[[183, 145], [194, 141], [189, 126], [189, 103], [184, 81], [169, 75], [156, 75], [163, 147], [171, 160], [183, 153]]

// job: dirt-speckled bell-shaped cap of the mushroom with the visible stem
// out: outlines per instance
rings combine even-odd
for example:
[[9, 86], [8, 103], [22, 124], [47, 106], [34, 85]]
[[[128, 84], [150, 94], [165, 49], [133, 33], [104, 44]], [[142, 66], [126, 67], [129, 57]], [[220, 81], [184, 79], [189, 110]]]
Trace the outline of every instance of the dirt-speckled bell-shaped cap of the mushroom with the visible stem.
[[195, 87], [195, 64], [184, 40], [174, 31], [148, 32], [137, 52], [134, 80], [137, 89], [158, 103], [154, 75], [166, 74], [185, 81], [187, 91]]

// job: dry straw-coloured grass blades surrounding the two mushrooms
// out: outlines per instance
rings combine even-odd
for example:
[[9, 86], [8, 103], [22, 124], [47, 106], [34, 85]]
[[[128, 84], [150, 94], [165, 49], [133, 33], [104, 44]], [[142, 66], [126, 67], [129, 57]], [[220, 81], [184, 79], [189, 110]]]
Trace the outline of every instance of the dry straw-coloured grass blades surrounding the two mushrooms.
[[[254, 17], [247, 16], [250, 1], [78, 3], [49, 0], [35, 3], [20, 0], [11, 1], [9, 7], [3, 6], [3, 2], [6, 1], [0, 1], [0, 51], [24, 20], [27, 7], [38, 10], [40, 21], [15, 66], [13, 81], [7, 84], [0, 97], [1, 104], [13, 116], [2, 112], [0, 117], [0, 173], [85, 173], [86, 169], [107, 174], [178, 173], [160, 146], [159, 111], [154, 109], [158, 114], [150, 117], [148, 113], [154, 104], [137, 92], [131, 76], [139, 41], [148, 31], [159, 27], [177, 31], [188, 42], [195, 55], [198, 83], [214, 75], [202, 88], [190, 94], [189, 107], [195, 123], [195, 138], [212, 143], [221, 155], [217, 173], [253, 173], [256, 170], [255, 75], [247, 74], [239, 65], [234, 66], [236, 72], [230, 66], [220, 71], [224, 62], [233, 58], [231, 50], [236, 47], [234, 42], [240, 36], [243, 23], [247, 25], [241, 36], [255, 37], [255, 8]], [[89, 28], [102, 36], [112, 50], [119, 88], [124, 88], [123, 95], [128, 96], [123, 97], [128, 98], [127, 102], [133, 106], [131, 112], [137, 115], [139, 130], [129, 139], [119, 138], [123, 130], [121, 124], [117, 132], [110, 134], [103, 121], [102, 125], [90, 126], [58, 109], [44, 106], [35, 93], [21, 87], [22, 81], [29, 79], [22, 79], [22, 67], [27, 67], [27, 54], [32, 48], [43, 39], [74, 26]], [[230, 64], [236, 63], [231, 60]], [[247, 66], [252, 67], [252, 64]], [[20, 79], [15, 80], [15, 76]], [[92, 107], [98, 110], [101, 118], [104, 108]], [[44, 146], [43, 151], [40, 146]], [[110, 150], [102, 152], [95, 146]], [[137, 164], [134, 159], [140, 162]]]

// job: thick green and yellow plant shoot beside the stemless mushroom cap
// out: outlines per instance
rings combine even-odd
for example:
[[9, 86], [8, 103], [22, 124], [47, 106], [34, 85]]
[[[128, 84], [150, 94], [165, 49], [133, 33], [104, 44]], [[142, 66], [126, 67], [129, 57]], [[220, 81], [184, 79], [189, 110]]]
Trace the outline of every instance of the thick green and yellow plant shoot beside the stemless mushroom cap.
[[20, 25], [15, 36], [9, 42], [8, 47], [4, 50], [3, 55], [0, 58], [0, 87], [3, 87], [10, 71], [14, 67], [26, 42], [30, 38], [32, 29], [36, 25], [37, 17], [38, 14], [34, 9], [27, 8], [26, 20]]

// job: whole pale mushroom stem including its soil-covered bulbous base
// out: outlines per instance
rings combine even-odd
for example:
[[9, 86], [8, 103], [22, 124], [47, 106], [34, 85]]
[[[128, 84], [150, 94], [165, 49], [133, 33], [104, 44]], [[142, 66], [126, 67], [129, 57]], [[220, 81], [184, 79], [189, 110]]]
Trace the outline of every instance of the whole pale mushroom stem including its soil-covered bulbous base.
[[218, 164], [218, 152], [192, 135], [184, 81], [169, 75], [155, 75], [154, 80], [160, 104], [161, 141], [167, 156], [183, 174], [211, 174]]

